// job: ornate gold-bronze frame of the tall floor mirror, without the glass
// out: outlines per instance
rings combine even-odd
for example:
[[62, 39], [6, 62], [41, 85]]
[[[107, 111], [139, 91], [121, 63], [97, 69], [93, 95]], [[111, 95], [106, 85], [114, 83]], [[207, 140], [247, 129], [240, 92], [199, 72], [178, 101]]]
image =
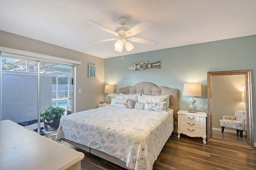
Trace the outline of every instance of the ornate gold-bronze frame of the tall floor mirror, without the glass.
[[[216, 75], [245, 75], [245, 102], [247, 111], [247, 143], [236, 142], [231, 140], [224, 140], [212, 137], [212, 76]], [[252, 113], [252, 71], [214, 71], [207, 72], [207, 103], [208, 103], [208, 129], [207, 140], [211, 142], [218, 142], [232, 146], [239, 146], [242, 148], [254, 149], [254, 132], [253, 132], [253, 113]]]

